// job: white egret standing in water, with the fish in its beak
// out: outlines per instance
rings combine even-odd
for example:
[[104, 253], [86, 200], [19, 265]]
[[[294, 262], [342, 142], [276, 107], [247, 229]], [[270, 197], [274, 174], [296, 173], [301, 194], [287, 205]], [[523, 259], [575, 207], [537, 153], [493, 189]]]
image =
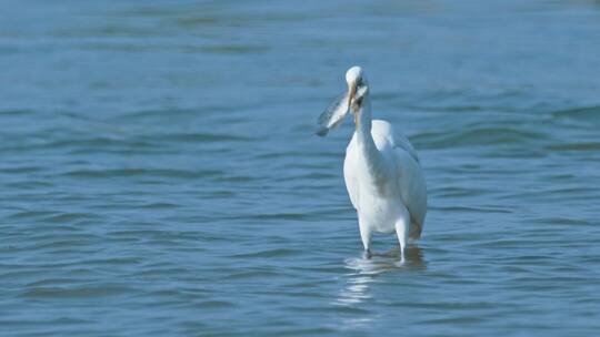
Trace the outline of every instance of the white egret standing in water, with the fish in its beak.
[[346, 149], [343, 177], [357, 210], [367, 258], [373, 233], [398, 236], [401, 263], [409, 241], [418, 239], [427, 212], [427, 187], [419, 156], [409, 140], [390, 123], [371, 120], [369, 84], [360, 67], [346, 73], [348, 93], [339, 96], [319, 118], [319, 135], [352, 112], [356, 131]]

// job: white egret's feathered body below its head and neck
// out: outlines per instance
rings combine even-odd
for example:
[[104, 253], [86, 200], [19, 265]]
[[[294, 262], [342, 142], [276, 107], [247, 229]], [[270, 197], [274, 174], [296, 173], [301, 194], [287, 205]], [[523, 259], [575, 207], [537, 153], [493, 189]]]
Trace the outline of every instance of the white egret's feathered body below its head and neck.
[[427, 191], [419, 159], [410, 142], [394, 133], [390, 123], [374, 120], [371, 126], [380, 163], [366, 160], [368, 151], [354, 132], [346, 149], [343, 177], [357, 210], [364, 249], [370, 252], [374, 233], [397, 233], [401, 248], [408, 238], [421, 236]]

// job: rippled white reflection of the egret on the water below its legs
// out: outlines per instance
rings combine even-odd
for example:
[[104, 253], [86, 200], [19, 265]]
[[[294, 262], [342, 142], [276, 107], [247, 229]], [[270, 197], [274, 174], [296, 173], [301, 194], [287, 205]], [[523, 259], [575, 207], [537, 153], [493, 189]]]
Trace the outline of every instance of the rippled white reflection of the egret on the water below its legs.
[[[370, 286], [378, 282], [380, 274], [393, 270], [424, 269], [427, 263], [418, 246], [409, 246], [404, 253], [406, 261], [400, 263], [400, 249], [393, 248], [386, 253], [373, 253], [371, 258], [349, 258], [346, 268], [352, 270], [347, 276], [347, 284], [340, 292], [336, 304], [354, 306], [371, 298]], [[363, 319], [361, 319], [362, 323]]]

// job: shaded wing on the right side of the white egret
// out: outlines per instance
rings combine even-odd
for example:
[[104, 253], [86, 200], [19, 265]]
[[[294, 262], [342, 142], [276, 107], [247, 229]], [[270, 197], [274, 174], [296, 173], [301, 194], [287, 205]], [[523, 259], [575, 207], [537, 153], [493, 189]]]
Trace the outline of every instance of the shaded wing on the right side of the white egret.
[[407, 206], [411, 226], [409, 237], [417, 239], [421, 236], [427, 213], [427, 186], [419, 157], [409, 140], [394, 134], [396, 167], [402, 202]]

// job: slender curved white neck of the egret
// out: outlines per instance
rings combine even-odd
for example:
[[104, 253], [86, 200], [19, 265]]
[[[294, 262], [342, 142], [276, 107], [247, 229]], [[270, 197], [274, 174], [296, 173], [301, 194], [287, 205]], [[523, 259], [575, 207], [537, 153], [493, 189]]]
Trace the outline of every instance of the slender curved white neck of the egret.
[[356, 118], [357, 144], [361, 156], [360, 161], [364, 163], [373, 181], [380, 181], [387, 176], [387, 172], [381, 153], [377, 149], [371, 134], [371, 102], [368, 98], [363, 100]]

